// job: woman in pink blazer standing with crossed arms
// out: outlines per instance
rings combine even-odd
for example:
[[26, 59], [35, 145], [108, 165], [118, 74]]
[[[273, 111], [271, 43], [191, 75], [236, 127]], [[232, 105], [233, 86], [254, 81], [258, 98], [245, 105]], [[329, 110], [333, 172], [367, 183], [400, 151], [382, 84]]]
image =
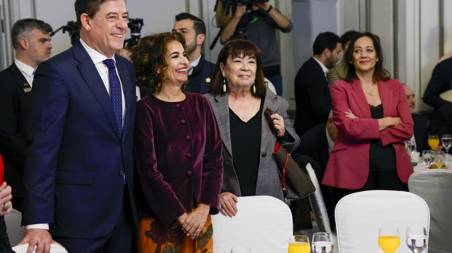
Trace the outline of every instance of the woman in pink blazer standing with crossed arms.
[[333, 198], [365, 190], [408, 191], [413, 166], [403, 141], [413, 135], [405, 91], [383, 68], [379, 40], [370, 32], [345, 52], [348, 74], [330, 87], [338, 128], [322, 183]]

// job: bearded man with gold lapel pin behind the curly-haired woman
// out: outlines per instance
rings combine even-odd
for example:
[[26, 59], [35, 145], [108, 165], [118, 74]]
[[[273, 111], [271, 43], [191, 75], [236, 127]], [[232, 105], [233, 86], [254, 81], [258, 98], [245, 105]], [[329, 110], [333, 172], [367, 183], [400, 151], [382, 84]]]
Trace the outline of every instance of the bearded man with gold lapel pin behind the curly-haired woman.
[[187, 68], [188, 92], [208, 93], [211, 81], [211, 74], [215, 64], [207, 61], [201, 53], [202, 45], [206, 39], [206, 25], [202, 19], [188, 13], [176, 15], [173, 32], [181, 33], [187, 43], [186, 52], [188, 54]]

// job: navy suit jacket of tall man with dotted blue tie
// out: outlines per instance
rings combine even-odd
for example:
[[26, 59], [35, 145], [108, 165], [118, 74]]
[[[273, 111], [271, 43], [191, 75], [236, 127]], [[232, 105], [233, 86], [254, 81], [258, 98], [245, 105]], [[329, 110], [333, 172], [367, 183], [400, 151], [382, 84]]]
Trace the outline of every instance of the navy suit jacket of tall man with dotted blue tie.
[[23, 225], [49, 223], [52, 236], [105, 236], [118, 221], [125, 187], [137, 225], [135, 74], [128, 60], [115, 59], [126, 100], [122, 137], [107, 89], [80, 41], [38, 66], [27, 127]]

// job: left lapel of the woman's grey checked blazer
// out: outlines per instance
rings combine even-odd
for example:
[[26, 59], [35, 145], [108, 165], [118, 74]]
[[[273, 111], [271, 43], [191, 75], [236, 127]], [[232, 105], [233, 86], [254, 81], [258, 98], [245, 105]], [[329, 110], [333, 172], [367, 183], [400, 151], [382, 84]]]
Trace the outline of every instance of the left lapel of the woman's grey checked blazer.
[[232, 157], [231, 146], [231, 128], [229, 121], [229, 100], [227, 92], [224, 95], [217, 95], [215, 97], [216, 103], [212, 104], [213, 111], [217, 117], [220, 127], [221, 140], [226, 146], [227, 151]]

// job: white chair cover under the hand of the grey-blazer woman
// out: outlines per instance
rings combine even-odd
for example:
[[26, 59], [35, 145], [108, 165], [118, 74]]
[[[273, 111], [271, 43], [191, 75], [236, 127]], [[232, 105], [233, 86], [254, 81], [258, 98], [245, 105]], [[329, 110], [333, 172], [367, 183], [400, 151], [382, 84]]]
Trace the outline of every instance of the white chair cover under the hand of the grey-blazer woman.
[[252, 253], [287, 252], [293, 235], [289, 207], [270, 196], [239, 197], [237, 215], [212, 215], [213, 249], [231, 252], [250, 247]]

